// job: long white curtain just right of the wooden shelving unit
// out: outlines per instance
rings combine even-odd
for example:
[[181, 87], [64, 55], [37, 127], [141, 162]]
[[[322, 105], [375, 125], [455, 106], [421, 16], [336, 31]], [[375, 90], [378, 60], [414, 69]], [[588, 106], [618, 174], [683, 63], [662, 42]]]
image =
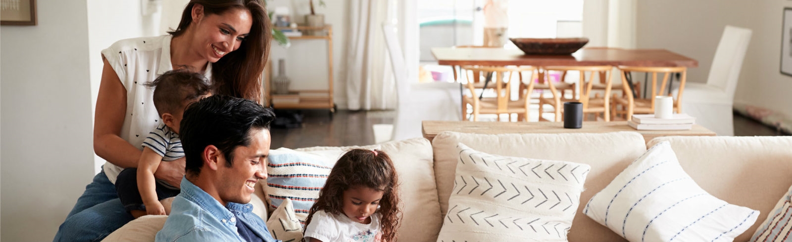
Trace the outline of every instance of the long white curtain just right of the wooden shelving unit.
[[389, 18], [389, 5], [387, 1], [351, 0], [349, 6], [348, 108], [394, 109], [394, 78], [382, 33], [382, 24]]

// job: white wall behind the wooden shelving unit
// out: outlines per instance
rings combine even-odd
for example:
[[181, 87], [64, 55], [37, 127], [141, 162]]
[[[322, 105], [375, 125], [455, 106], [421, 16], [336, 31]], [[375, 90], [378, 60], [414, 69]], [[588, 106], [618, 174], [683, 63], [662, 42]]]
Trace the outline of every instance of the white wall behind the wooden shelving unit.
[[[325, 24], [333, 25], [333, 99], [338, 108], [346, 109], [346, 50], [349, 1], [325, 1], [320, 7], [314, 1], [317, 13], [325, 15]], [[303, 25], [305, 15], [310, 13], [308, 0], [269, 1], [268, 11], [277, 6], [291, 9], [291, 21]], [[281, 47], [272, 41], [269, 55], [272, 61], [272, 77], [277, 76], [278, 59], [285, 59], [286, 75], [291, 79], [289, 89], [327, 89], [327, 43], [325, 40], [291, 40], [291, 47]]]

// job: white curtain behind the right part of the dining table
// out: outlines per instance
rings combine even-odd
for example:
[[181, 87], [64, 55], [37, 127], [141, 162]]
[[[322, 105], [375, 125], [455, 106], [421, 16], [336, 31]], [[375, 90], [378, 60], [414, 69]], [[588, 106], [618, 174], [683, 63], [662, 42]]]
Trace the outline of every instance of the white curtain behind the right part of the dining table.
[[588, 47], [636, 47], [636, 0], [586, 0], [583, 36]]

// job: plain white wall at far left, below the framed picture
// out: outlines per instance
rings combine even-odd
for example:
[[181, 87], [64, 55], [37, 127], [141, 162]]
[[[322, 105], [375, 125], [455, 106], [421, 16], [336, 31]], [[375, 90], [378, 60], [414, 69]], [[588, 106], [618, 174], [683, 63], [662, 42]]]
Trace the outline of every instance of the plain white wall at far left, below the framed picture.
[[0, 27], [2, 241], [49, 241], [93, 176], [86, 1]]

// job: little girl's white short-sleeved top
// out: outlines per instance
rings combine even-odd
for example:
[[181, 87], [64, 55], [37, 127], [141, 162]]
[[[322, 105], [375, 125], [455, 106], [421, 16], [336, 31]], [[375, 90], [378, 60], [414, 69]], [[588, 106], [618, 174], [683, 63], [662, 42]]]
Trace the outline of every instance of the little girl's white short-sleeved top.
[[379, 219], [382, 215], [371, 215], [371, 222], [367, 225], [352, 221], [344, 214], [328, 214], [317, 211], [310, 219], [310, 224], [305, 228], [304, 237], [310, 237], [322, 242], [379, 242], [382, 240], [382, 225]]

